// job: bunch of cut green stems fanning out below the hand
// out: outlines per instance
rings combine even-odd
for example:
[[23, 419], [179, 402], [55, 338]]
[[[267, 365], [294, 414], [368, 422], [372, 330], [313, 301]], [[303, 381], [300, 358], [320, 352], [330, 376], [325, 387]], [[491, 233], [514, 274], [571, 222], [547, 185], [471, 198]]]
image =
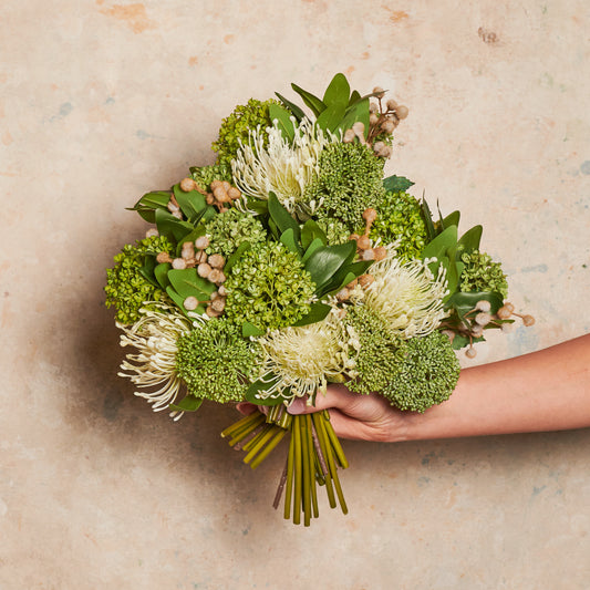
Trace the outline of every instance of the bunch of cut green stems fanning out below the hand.
[[279, 507], [284, 491], [284, 518], [292, 516], [293, 524], [309, 526], [318, 518], [317, 485], [325, 486], [331, 508], [338, 503], [344, 514], [346, 503], [338, 477], [338, 467], [349, 466], [342, 446], [330, 423], [327, 411], [306, 415], [291, 415], [284, 406], [275, 406], [268, 416], [255, 412], [226, 428], [221, 436], [230, 437], [229, 445], [247, 453], [244, 462], [256, 468], [291, 432], [289, 454], [273, 506]]

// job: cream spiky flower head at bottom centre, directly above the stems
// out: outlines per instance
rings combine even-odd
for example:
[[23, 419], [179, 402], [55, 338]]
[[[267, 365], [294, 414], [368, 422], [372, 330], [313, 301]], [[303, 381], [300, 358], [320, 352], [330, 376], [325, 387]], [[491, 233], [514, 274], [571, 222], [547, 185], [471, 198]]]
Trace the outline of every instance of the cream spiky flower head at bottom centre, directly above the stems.
[[304, 395], [313, 397], [318, 391], [325, 393], [329, 381], [354, 376], [350, 339], [338, 310], [321, 322], [273, 330], [257, 339], [263, 358], [260, 374], [272, 375], [269, 389], [258, 395], [276, 398], [289, 391], [289, 402]]

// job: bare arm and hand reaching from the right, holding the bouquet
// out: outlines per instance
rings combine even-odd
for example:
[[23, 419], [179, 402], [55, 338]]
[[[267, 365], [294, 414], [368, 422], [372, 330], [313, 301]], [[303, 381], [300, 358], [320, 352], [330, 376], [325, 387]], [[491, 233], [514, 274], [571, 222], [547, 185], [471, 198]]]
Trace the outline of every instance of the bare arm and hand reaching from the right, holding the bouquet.
[[[242, 413], [256, 410], [238, 404]], [[424, 414], [401, 412], [376, 394], [330, 385], [315, 406], [296, 400], [291, 414], [330, 410], [338, 436], [401, 442], [590, 426], [590, 334], [496, 363], [465, 369], [448, 401]]]

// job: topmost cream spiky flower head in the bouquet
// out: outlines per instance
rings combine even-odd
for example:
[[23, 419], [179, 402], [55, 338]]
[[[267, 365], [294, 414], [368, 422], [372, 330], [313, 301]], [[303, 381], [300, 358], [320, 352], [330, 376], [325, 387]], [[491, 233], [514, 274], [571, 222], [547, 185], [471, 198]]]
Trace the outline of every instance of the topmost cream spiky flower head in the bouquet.
[[303, 204], [306, 187], [319, 173], [319, 158], [322, 149], [339, 138], [324, 134], [308, 118], [297, 123], [294, 139], [286, 139], [275, 122], [268, 127], [268, 144], [260, 126], [250, 131], [248, 145], [240, 143], [237, 156], [231, 161], [234, 180], [242, 194], [259, 199], [268, 199], [270, 192], [279, 201], [297, 215], [310, 216], [319, 204]]

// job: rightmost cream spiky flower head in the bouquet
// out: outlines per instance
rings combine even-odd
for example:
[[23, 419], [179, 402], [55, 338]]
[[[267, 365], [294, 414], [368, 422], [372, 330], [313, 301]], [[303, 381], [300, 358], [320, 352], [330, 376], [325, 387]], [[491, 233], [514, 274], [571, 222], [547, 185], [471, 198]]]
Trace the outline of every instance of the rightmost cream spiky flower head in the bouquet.
[[432, 261], [403, 262], [390, 256], [371, 267], [374, 281], [365, 290], [364, 304], [403, 339], [429, 334], [447, 315], [445, 270], [441, 265], [435, 277], [428, 268]]

